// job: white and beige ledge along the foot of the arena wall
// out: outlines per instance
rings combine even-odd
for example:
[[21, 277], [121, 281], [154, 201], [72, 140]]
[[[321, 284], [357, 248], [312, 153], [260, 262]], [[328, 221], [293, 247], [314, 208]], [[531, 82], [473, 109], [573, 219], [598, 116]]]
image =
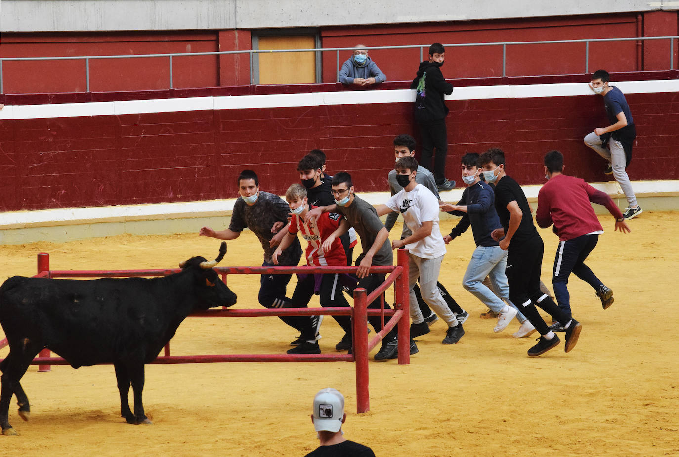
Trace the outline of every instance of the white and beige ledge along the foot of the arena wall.
[[[615, 181], [592, 184], [609, 194], [620, 208], [627, 202]], [[635, 181], [637, 200], [644, 211], [673, 211], [679, 208], [679, 181]], [[524, 186], [530, 202], [536, 202], [540, 185]], [[463, 189], [441, 192], [447, 202], [457, 202]], [[389, 198], [388, 192], [360, 194], [371, 204]], [[191, 233], [210, 225], [215, 230], [228, 226], [235, 198], [160, 204], [96, 206], [91, 208], [61, 208], [43, 211], [0, 213], [0, 244], [24, 244], [37, 241], [64, 242], [118, 234]], [[535, 205], [533, 205], [535, 206]], [[596, 213], [606, 208], [593, 205]], [[441, 213], [441, 219], [456, 219]]]

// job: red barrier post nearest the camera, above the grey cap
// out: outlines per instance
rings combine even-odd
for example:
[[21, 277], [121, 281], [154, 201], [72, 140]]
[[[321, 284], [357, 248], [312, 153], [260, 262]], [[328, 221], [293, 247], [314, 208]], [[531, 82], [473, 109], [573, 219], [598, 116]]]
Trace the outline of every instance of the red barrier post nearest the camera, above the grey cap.
[[365, 413], [370, 409], [368, 390], [368, 304], [365, 289], [354, 290], [354, 364], [356, 365], [356, 412]]

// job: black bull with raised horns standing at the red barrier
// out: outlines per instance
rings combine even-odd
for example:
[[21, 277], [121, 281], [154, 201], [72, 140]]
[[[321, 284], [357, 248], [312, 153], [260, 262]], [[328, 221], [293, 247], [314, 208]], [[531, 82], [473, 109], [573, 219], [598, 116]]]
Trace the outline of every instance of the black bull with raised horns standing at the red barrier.
[[[14, 276], [0, 287], [0, 323], [10, 354], [0, 363], [3, 435], [16, 435], [7, 418], [12, 394], [19, 416], [29, 419], [29, 399], [20, 380], [35, 355], [49, 348], [73, 368], [113, 363], [120, 415], [130, 424], [150, 424], [141, 392], [144, 364], [153, 361], [194, 310], [236, 304], [236, 294], [212, 268], [226, 253], [206, 261], [194, 257], [181, 272], [159, 278], [69, 280]], [[128, 392], [132, 384], [134, 414]]]

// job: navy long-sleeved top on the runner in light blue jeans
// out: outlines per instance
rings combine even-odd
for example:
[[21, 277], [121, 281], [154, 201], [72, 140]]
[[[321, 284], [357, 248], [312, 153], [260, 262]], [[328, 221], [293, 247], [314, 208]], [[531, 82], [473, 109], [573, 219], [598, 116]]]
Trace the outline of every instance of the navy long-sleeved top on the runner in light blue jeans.
[[456, 216], [462, 216], [458, 225], [450, 231], [451, 238], [462, 235], [471, 225], [474, 241], [477, 246], [497, 246], [498, 242], [490, 234], [496, 228], [502, 227], [500, 218], [495, 211], [495, 191], [491, 185], [479, 181], [462, 192], [459, 205], [466, 205], [467, 212], [455, 211]]

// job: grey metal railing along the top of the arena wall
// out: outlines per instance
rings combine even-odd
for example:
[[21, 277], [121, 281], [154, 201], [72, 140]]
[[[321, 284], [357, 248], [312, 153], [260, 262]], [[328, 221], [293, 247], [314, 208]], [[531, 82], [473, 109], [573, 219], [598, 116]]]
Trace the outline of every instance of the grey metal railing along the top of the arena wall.
[[[445, 48], [471, 48], [475, 46], [502, 46], [502, 77], [507, 75], [507, 46], [515, 45], [536, 45], [536, 44], [559, 44], [559, 43], [585, 43], [585, 71], [589, 73], [589, 43], [601, 41], [646, 41], [652, 39], [667, 39], [669, 41], [669, 69], [674, 69], [674, 40], [679, 39], [679, 35], [665, 35], [661, 37], [625, 37], [625, 38], [587, 38], [587, 39], [559, 39], [551, 41], [506, 41], [496, 43], [455, 43], [445, 44]], [[398, 50], [398, 49], [419, 49], [420, 61], [424, 58], [424, 50], [428, 49], [428, 45], [401, 45], [401, 46], [371, 46], [365, 48], [366, 50]], [[67, 57], [7, 57], [0, 58], [0, 94], [5, 93], [4, 78], [3, 78], [3, 62], [17, 62], [17, 61], [39, 61], [39, 60], [84, 60], [85, 61], [85, 75], [87, 92], [90, 92], [90, 60], [100, 59], [120, 59], [120, 58], [159, 58], [167, 57], [169, 65], [169, 84], [170, 89], [174, 89], [174, 78], [172, 75], [172, 58], [175, 57], [189, 57], [189, 56], [227, 56], [247, 54], [249, 56], [249, 71], [250, 84], [255, 84], [255, 75], [253, 74], [253, 60], [259, 54], [272, 54], [280, 52], [315, 52], [320, 55], [321, 52], [335, 52], [335, 75], [336, 80], [339, 81], [339, 52], [353, 51], [355, 48], [314, 48], [314, 49], [289, 49], [289, 50], [244, 50], [244, 51], [220, 51], [220, 52], [191, 52], [191, 53], [174, 53], [174, 54], [135, 54], [126, 56], [67, 56]]]

